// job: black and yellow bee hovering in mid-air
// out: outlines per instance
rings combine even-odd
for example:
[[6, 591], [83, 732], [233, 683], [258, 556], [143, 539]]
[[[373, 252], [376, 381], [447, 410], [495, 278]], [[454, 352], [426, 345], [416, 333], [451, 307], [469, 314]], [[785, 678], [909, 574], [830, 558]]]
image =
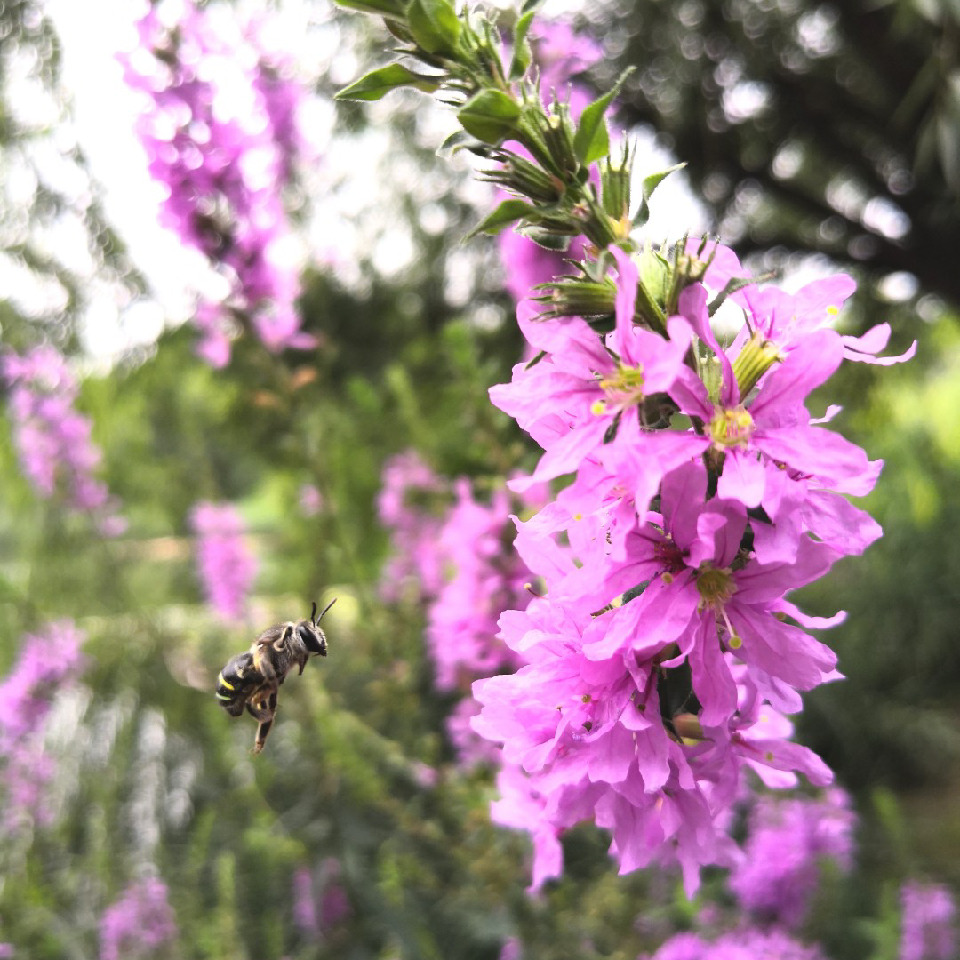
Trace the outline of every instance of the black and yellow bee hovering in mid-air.
[[287, 674], [297, 666], [299, 674], [311, 656], [327, 655], [327, 638], [320, 629], [324, 614], [337, 602], [336, 597], [317, 616], [317, 605], [308, 620], [278, 623], [257, 637], [249, 650], [231, 657], [217, 678], [217, 699], [231, 717], [244, 710], [259, 726], [253, 752], [259, 753], [267, 742], [277, 715], [277, 691]]

